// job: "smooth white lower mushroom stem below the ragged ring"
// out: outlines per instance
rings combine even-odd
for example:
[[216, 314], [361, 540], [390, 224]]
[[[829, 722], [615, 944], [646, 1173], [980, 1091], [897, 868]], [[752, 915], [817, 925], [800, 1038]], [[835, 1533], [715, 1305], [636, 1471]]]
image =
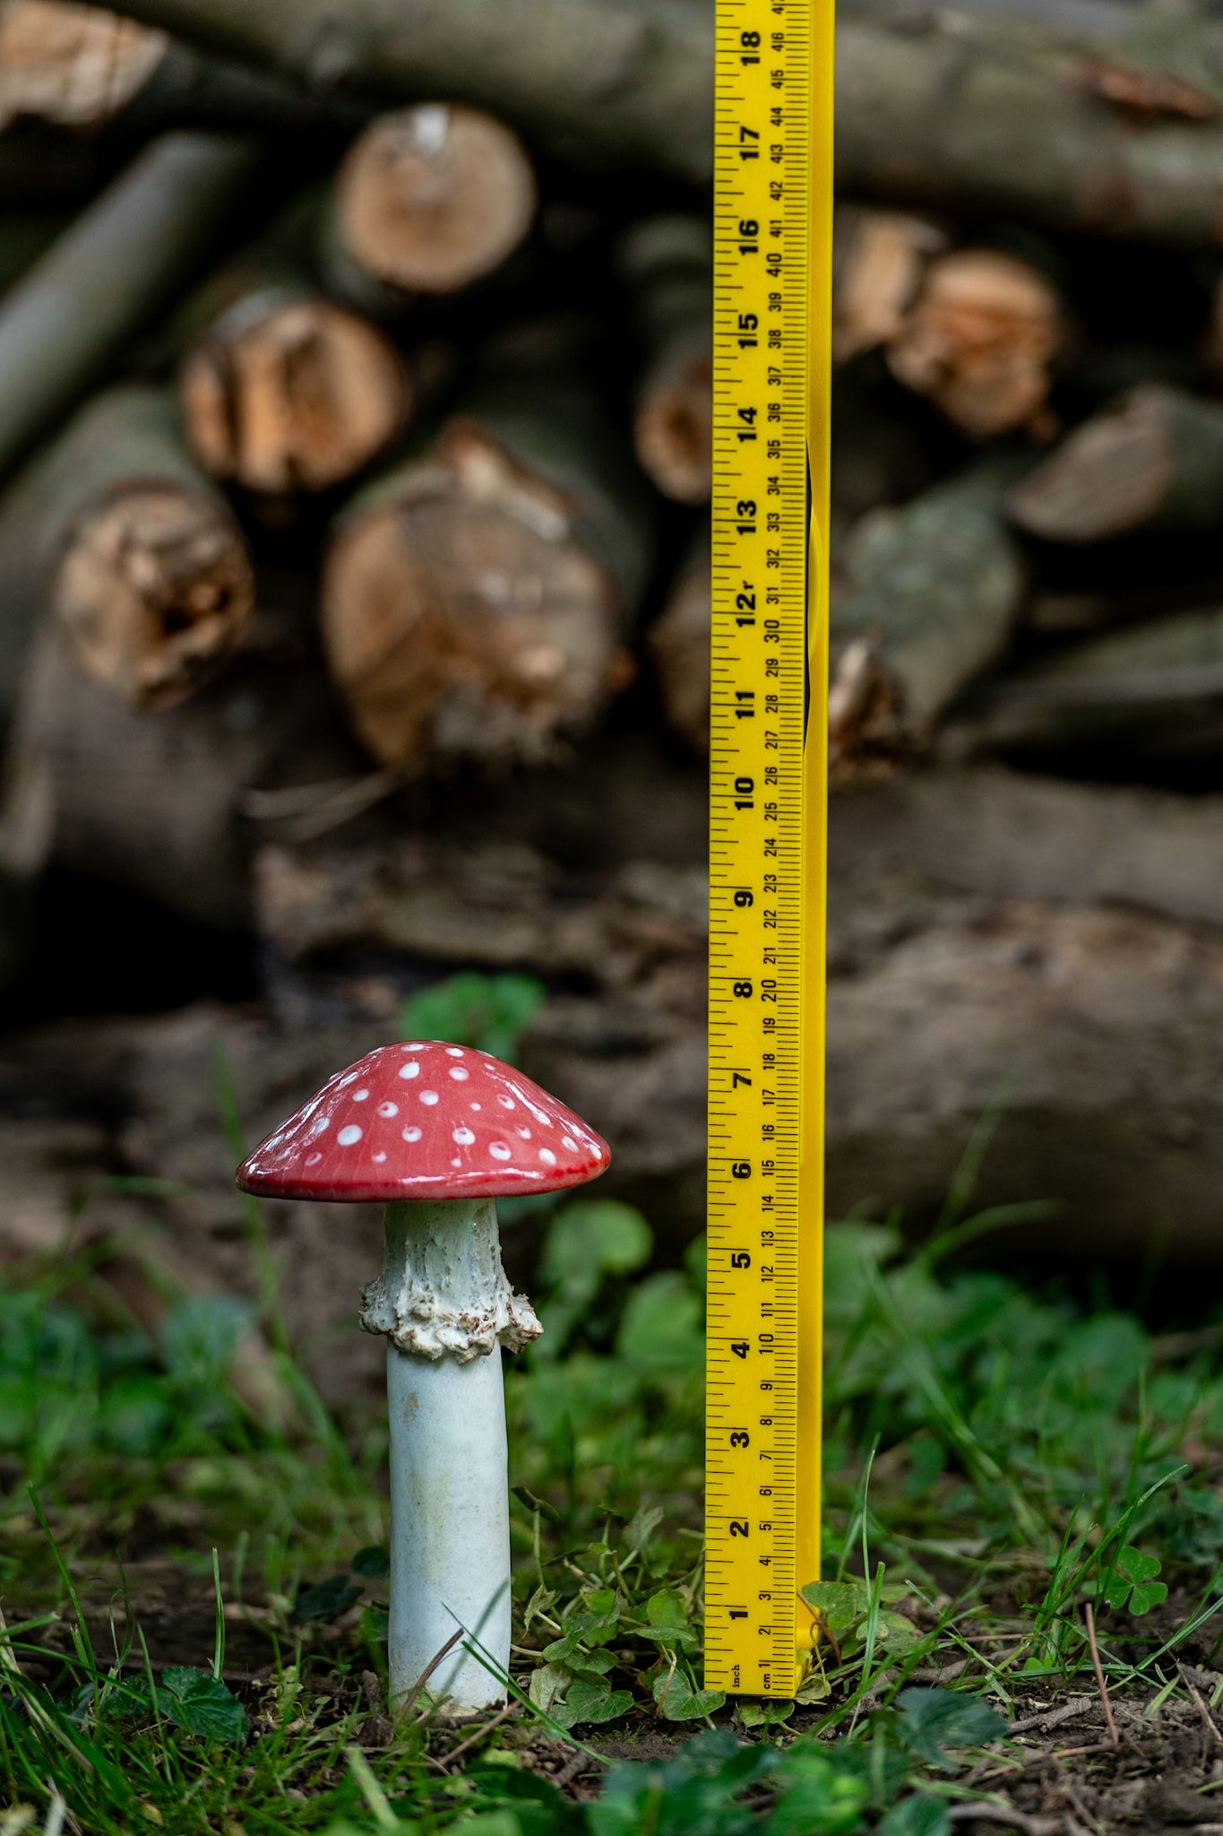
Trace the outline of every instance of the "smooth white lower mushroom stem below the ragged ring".
[[402, 1707], [438, 1651], [462, 1640], [425, 1687], [447, 1715], [504, 1702], [510, 1669], [510, 1509], [501, 1346], [460, 1364], [387, 1344], [391, 1406], [391, 1706]]

